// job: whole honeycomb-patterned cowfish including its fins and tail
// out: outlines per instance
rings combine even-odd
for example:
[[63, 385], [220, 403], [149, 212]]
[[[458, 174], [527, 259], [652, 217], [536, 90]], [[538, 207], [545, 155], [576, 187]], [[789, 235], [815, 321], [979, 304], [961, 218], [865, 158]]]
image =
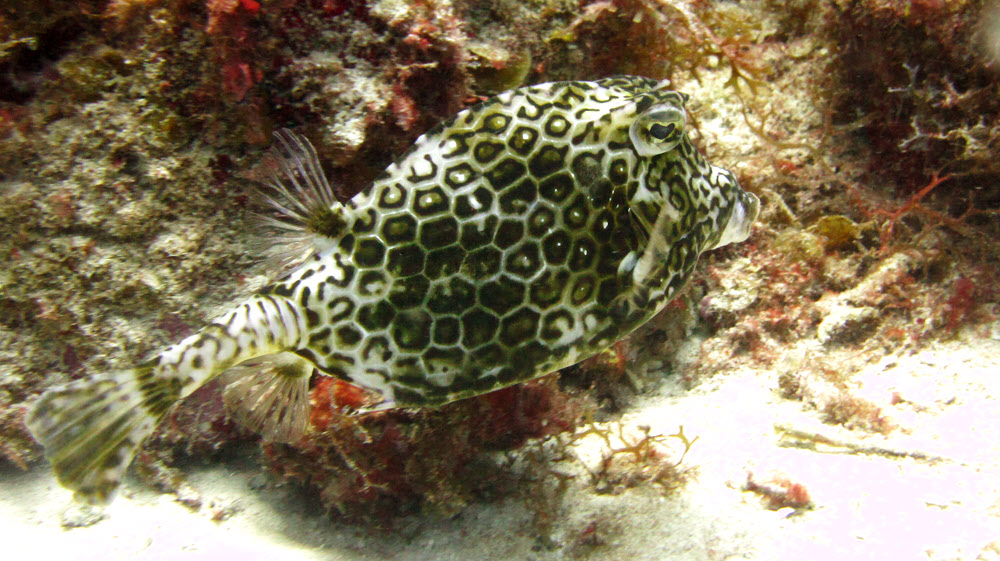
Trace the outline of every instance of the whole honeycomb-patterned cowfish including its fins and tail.
[[46, 391], [26, 424], [59, 482], [104, 504], [167, 411], [225, 373], [264, 438], [308, 428], [314, 373], [437, 406], [609, 347], [760, 203], [693, 146], [688, 96], [613, 77], [523, 87], [434, 127], [341, 202], [316, 152], [276, 134], [262, 194], [274, 281], [131, 370]]

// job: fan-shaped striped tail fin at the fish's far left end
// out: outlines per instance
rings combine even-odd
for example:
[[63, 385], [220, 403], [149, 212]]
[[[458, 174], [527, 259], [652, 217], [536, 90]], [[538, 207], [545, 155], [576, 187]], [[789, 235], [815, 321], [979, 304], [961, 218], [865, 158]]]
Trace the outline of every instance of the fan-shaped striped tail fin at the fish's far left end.
[[179, 397], [143, 387], [152, 370], [143, 365], [52, 388], [28, 413], [28, 429], [78, 501], [111, 502], [139, 445]]

